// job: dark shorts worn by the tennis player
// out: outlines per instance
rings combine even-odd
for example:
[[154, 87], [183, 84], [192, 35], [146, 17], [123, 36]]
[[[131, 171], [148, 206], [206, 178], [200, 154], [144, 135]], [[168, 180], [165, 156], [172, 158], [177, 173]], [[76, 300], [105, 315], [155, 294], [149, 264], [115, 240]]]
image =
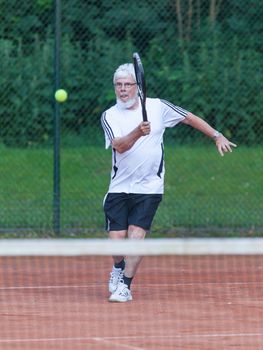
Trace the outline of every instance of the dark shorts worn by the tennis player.
[[127, 230], [129, 225], [149, 230], [162, 194], [108, 193], [104, 202], [107, 231]]

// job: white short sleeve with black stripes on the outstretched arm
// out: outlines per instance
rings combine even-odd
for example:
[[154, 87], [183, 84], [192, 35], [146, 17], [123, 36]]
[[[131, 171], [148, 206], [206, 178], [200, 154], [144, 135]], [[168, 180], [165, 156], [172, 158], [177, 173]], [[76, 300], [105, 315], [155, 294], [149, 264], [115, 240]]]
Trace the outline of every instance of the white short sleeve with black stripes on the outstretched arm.
[[172, 128], [176, 124], [180, 123], [186, 118], [187, 114], [189, 113], [187, 110], [175, 106], [174, 104], [166, 100], [161, 100], [161, 104], [163, 121], [165, 127], [167, 128]]

